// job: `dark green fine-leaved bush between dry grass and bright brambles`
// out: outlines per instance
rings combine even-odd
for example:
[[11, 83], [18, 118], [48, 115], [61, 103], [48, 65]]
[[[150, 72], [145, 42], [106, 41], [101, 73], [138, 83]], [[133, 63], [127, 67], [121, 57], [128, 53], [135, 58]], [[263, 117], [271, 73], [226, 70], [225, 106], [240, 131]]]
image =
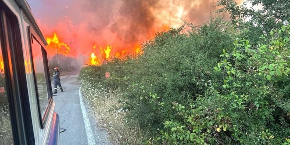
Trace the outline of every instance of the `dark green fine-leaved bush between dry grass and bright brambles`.
[[[160, 128], [164, 119], [177, 118], [171, 109], [174, 102], [189, 106], [204, 94], [202, 88], [196, 87], [196, 81], [216, 76], [210, 71], [218, 62], [219, 53], [223, 48], [233, 48], [230, 34], [219, 30], [219, 26], [218, 21], [213, 21], [188, 34], [181, 33], [183, 27], [158, 33], [144, 45], [144, 54], [125, 67], [134, 72], [129, 76], [132, 86], [125, 97], [132, 101], [132, 116], [142, 127]], [[158, 101], [164, 103], [161, 111], [149, 107], [150, 101], [145, 98], [150, 98], [149, 92], [156, 93]], [[141, 100], [142, 96], [145, 99]]]

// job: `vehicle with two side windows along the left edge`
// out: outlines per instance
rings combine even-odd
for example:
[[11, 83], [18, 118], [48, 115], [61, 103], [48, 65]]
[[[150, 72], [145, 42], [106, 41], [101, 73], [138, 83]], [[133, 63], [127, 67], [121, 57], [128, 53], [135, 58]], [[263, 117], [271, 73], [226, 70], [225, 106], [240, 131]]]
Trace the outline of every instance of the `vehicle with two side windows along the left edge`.
[[0, 0], [0, 144], [59, 144], [48, 45], [26, 0]]

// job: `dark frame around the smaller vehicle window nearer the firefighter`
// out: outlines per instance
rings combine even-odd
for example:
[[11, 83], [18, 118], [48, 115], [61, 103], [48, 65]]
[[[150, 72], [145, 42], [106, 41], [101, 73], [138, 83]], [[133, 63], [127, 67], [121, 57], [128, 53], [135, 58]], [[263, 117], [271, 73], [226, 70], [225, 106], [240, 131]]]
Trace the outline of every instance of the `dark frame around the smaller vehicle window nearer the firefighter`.
[[[53, 103], [53, 95], [52, 95], [52, 88], [51, 88], [51, 79], [50, 79], [50, 74], [48, 70], [48, 57], [46, 50], [44, 48], [43, 43], [41, 43], [40, 38], [38, 37], [36, 31], [29, 26], [28, 27], [28, 38], [29, 38], [29, 53], [30, 53], [30, 59], [31, 59], [31, 67], [32, 67], [32, 74], [33, 74], [33, 79], [34, 79], [34, 86], [35, 86], [35, 92], [36, 92], [36, 101], [37, 101], [37, 109], [38, 109], [38, 116], [39, 116], [39, 123], [42, 129], [45, 128], [47, 119], [48, 119], [48, 114], [49, 111], [51, 110], [52, 103]], [[46, 86], [47, 86], [47, 96], [48, 96], [48, 106], [45, 109], [45, 113], [42, 117], [41, 111], [40, 111], [40, 103], [39, 103], [39, 94], [38, 94], [38, 88], [37, 88], [37, 80], [36, 80], [36, 73], [34, 70], [34, 61], [33, 61], [33, 55], [32, 55], [32, 41], [36, 40], [36, 42], [41, 46], [41, 52], [42, 52], [42, 60], [43, 60], [43, 66], [44, 66], [44, 73], [45, 73], [45, 79], [46, 81]]]

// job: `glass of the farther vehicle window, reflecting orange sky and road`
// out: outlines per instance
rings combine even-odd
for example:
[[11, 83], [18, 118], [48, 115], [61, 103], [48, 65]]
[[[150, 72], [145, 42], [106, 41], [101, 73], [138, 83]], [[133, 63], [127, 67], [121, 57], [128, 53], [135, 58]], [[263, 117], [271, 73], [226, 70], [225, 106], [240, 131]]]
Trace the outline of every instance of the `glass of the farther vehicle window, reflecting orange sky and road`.
[[44, 61], [42, 56], [41, 45], [32, 38], [31, 51], [33, 57], [33, 68], [37, 83], [37, 97], [39, 99], [39, 108], [43, 117], [45, 109], [48, 106], [47, 80], [45, 77]]

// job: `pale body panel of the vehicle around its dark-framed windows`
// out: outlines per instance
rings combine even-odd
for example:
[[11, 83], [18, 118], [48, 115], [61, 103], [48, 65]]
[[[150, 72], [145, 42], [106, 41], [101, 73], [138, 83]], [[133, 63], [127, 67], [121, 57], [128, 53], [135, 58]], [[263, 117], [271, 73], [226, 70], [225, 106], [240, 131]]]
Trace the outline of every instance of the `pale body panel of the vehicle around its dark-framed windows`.
[[[25, 0], [15, 0], [15, 1], [2, 0], [2, 1], [7, 5], [7, 7], [9, 7], [9, 9], [17, 17], [17, 21], [20, 27], [19, 29], [21, 33], [22, 51], [24, 57], [23, 62], [25, 65], [26, 82], [29, 95], [30, 112], [33, 124], [33, 134], [35, 138], [35, 144], [48, 144], [48, 141], [52, 140], [53, 138], [59, 140], [59, 116], [54, 112], [55, 103], [52, 96], [48, 96], [51, 97], [51, 100], [48, 100], [50, 101], [50, 103], [48, 104], [46, 110], [47, 116], [44, 125], [41, 124], [41, 120], [39, 119], [41, 118], [41, 115], [39, 114], [39, 106], [36, 99], [35, 77], [33, 76], [32, 71], [33, 62], [30, 50], [31, 34], [35, 36], [35, 38], [38, 40], [38, 42], [42, 45], [44, 49], [45, 45], [47, 45], [45, 37], [42, 35], [36, 23], [36, 20], [34, 19], [31, 10]], [[51, 129], [52, 123], [54, 123], [53, 129]], [[55, 136], [54, 133], [56, 133], [57, 130], [58, 134], [57, 136]], [[50, 139], [50, 135], [54, 135], [54, 137]], [[57, 143], [59, 143], [59, 141]]]

